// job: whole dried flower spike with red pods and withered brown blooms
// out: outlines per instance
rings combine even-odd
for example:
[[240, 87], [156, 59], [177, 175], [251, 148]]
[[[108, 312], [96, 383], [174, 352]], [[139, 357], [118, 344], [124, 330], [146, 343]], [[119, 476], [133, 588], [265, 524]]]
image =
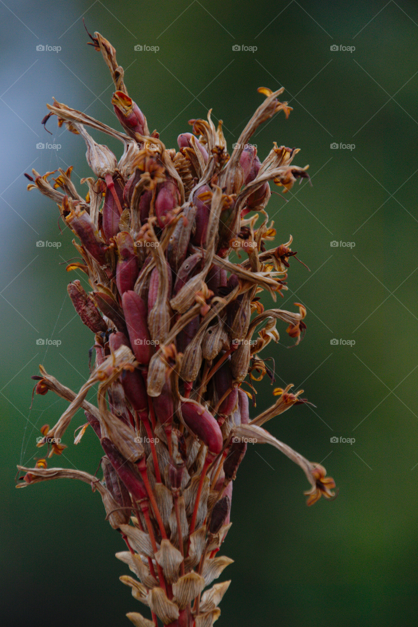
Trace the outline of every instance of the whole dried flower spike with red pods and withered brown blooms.
[[[54, 100], [46, 119], [56, 115], [58, 125], [82, 136], [95, 178], [85, 179], [83, 199], [70, 180], [72, 168], [60, 169], [53, 184], [53, 172], [26, 176], [28, 189], [53, 199], [80, 240], [74, 245], [83, 262], [67, 269], [84, 272], [92, 291], [75, 280], [68, 294], [95, 334], [96, 352], [95, 368], [78, 394], [43, 367], [33, 377], [37, 394], [51, 390], [70, 402], [55, 426], [41, 429], [38, 446], [47, 444], [49, 457], [62, 453], [62, 436], [82, 408], [87, 422], [75, 443], [89, 425], [94, 429], [104, 450], [104, 480], [47, 468], [43, 459], [35, 468], [19, 466], [26, 472], [19, 487], [65, 477], [89, 483], [129, 549], [117, 557], [136, 578], [121, 581], [151, 610], [152, 621], [127, 614], [132, 623], [156, 626], [158, 617], [173, 627], [206, 627], [218, 618], [230, 583], [203, 592], [232, 562], [217, 552], [230, 528], [232, 480], [247, 442], [276, 446], [301, 466], [311, 483], [308, 505], [334, 496], [335, 483], [323, 466], [262, 428], [306, 403], [302, 390], [277, 388], [276, 403], [249, 418], [254, 382], [265, 374], [274, 379], [259, 353], [279, 339], [276, 322], [288, 325], [296, 344], [306, 329], [303, 305], [295, 303], [298, 312], [264, 310], [259, 300], [263, 290], [276, 300], [287, 289], [288, 261], [296, 254], [292, 240], [266, 250], [276, 234], [265, 212], [269, 181], [287, 191], [308, 174], [306, 167], [292, 166], [297, 149], [274, 144], [261, 162], [248, 144], [259, 124], [281, 110], [289, 115], [291, 108], [277, 100], [282, 89], [259, 89], [266, 98], [231, 155], [222, 123], [216, 128], [210, 112], [207, 121], [190, 121], [193, 133], [179, 135], [179, 151], [168, 150], [158, 132], [149, 134], [129, 97], [114, 48], [99, 33], [92, 41], [112, 74], [112, 104], [125, 132]], [[121, 140], [119, 162], [85, 127]], [[230, 261], [232, 251], [245, 260]], [[86, 400], [95, 384], [97, 406]]]

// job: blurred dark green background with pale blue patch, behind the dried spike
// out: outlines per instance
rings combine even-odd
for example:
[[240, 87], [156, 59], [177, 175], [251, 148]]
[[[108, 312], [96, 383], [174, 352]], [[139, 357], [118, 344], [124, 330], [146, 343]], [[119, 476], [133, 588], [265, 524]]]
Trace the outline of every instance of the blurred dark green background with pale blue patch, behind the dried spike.
[[[264, 98], [257, 87], [284, 86], [289, 119], [279, 113], [252, 141], [261, 159], [276, 140], [300, 147], [294, 163], [310, 165], [313, 187], [295, 186], [287, 202], [272, 196], [268, 208], [276, 245], [292, 234], [292, 249], [311, 270], [291, 259], [279, 302], [291, 310], [303, 302], [308, 331], [289, 348], [278, 325], [281, 342], [264, 355], [276, 361], [276, 385], [303, 387], [316, 408], [292, 408], [268, 428], [323, 463], [340, 494], [307, 508], [299, 468], [275, 449], [250, 446], [223, 544], [235, 563], [221, 577], [232, 584], [218, 624], [416, 624], [416, 3], [6, 0], [0, 13], [4, 624], [114, 627], [129, 624], [127, 611], [143, 609], [118, 581], [127, 572], [114, 557], [123, 543], [104, 521], [99, 495], [77, 482], [14, 488], [16, 463], [33, 463], [40, 426], [54, 424], [65, 407], [47, 394], [29, 410], [30, 376], [40, 363], [72, 389], [88, 376], [92, 334], [66, 291], [71, 238], [60, 233], [55, 205], [26, 192], [23, 177], [32, 167], [44, 174], [73, 165], [82, 189], [80, 177], [90, 174], [79, 137], [57, 129], [55, 119], [53, 135], [40, 125], [53, 96], [117, 127], [109, 71], [86, 46], [82, 17], [117, 49], [129, 93], [167, 146], [211, 107], [230, 146]], [[119, 144], [95, 139], [120, 155]], [[37, 149], [38, 142], [60, 148]], [[39, 240], [62, 246], [39, 248]], [[38, 338], [62, 344], [46, 350]], [[252, 416], [272, 401], [265, 381]], [[75, 426], [82, 422], [77, 415]], [[71, 434], [58, 462], [94, 473], [94, 435], [74, 447]], [[355, 442], [331, 441], [340, 437]]]

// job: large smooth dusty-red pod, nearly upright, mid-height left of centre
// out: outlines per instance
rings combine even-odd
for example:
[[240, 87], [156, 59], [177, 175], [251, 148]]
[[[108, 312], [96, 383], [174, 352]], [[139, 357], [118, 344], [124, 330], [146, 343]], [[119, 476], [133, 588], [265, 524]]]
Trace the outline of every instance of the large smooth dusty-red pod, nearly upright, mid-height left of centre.
[[154, 351], [147, 327], [146, 305], [140, 296], [128, 290], [122, 295], [122, 307], [134, 356], [140, 364], [147, 365]]

